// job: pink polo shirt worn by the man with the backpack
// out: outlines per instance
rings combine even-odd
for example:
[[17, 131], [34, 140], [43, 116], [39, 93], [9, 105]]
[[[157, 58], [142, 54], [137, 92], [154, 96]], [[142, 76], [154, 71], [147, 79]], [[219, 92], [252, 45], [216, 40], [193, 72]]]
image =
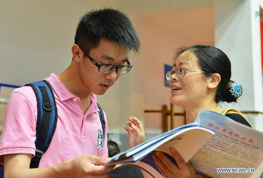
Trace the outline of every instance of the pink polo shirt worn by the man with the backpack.
[[[102, 125], [96, 95], [91, 93], [91, 105], [83, 115], [79, 97], [72, 95], [55, 74], [52, 73], [45, 80], [51, 85], [56, 99], [58, 122], [51, 144], [40, 160], [39, 168], [50, 167], [81, 155], [108, 157], [107, 119], [104, 112], [104, 144], [103, 147], [97, 144], [98, 130], [102, 130]], [[4, 154], [35, 155], [36, 123], [37, 101], [34, 91], [30, 86], [15, 89], [7, 104], [0, 140], [0, 163], [3, 164]]]

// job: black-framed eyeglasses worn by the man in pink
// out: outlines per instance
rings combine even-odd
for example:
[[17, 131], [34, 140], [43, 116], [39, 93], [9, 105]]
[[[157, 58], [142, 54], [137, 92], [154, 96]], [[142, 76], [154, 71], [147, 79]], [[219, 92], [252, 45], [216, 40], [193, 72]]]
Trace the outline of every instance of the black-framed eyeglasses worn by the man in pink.
[[[80, 46], [79, 46], [79, 48], [82, 50], [82, 48]], [[131, 64], [130, 64], [130, 62], [128, 60], [125, 61], [125, 63], [127, 63], [127, 65], [115, 66], [113, 64], [104, 64], [104, 63], [103, 64], [98, 64], [98, 62], [95, 61], [92, 57], [90, 57], [87, 53], [85, 53], [84, 50], [82, 50], [82, 51], [89, 58], [89, 60], [94, 65], [96, 65], [98, 67], [98, 71], [103, 73], [103, 74], [110, 73], [110, 72], [114, 71], [114, 69], [116, 69], [117, 74], [126, 74], [127, 72], [129, 72], [131, 70], [132, 66], [131, 66]]]

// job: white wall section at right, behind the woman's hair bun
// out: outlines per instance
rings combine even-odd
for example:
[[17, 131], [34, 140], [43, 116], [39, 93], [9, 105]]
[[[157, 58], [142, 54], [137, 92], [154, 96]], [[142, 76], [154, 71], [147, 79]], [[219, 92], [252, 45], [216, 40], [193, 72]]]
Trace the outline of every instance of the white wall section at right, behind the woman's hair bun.
[[262, 69], [258, 0], [215, 0], [215, 46], [232, 64], [233, 81], [243, 88], [238, 104], [241, 111], [263, 111]]

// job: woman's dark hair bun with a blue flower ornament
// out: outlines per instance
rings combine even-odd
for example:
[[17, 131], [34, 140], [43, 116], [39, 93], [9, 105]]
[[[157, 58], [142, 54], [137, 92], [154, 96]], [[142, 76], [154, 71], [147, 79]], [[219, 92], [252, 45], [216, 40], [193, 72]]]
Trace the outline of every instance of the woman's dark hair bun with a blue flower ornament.
[[242, 95], [242, 87], [238, 83], [231, 80], [229, 81], [228, 86], [225, 101], [228, 103], [236, 102], [237, 98]]

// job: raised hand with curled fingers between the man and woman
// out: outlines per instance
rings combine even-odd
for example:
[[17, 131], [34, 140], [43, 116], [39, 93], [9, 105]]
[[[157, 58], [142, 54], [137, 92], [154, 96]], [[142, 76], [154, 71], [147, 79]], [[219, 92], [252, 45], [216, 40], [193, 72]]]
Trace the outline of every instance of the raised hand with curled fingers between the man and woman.
[[126, 122], [126, 125], [129, 127], [125, 126], [124, 129], [129, 134], [129, 144], [130, 148], [132, 148], [145, 141], [145, 133], [143, 130], [143, 125], [139, 119], [136, 117], [130, 117], [129, 121], [130, 122]]

